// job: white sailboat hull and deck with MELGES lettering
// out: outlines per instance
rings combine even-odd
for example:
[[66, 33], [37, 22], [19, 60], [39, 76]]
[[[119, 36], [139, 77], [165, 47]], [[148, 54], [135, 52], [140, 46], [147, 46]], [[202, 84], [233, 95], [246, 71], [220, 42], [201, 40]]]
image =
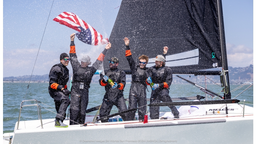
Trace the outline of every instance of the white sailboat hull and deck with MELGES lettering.
[[[211, 114], [212, 111], [209, 111], [221, 106], [204, 105], [207, 115], [203, 116], [184, 117], [179, 120], [148, 120], [148, 124], [139, 121], [125, 121], [88, 124], [86, 127], [73, 125], [67, 128], [58, 128], [54, 127], [54, 119], [45, 119], [42, 129], [39, 120], [20, 121], [18, 130], [16, 130], [17, 123], [15, 125], [12, 144], [114, 143], [113, 141], [181, 144], [253, 143], [253, 108], [245, 106], [244, 117], [242, 117], [243, 113], [241, 114], [242, 107], [238, 104], [228, 104], [228, 117], [226, 117], [225, 111], [223, 113], [220, 111], [219, 114]], [[231, 111], [232, 109], [234, 110]], [[87, 117], [86, 121], [88, 121]], [[69, 120], [64, 121], [64, 124], [69, 124]], [[4, 142], [8, 143], [7, 140]]]

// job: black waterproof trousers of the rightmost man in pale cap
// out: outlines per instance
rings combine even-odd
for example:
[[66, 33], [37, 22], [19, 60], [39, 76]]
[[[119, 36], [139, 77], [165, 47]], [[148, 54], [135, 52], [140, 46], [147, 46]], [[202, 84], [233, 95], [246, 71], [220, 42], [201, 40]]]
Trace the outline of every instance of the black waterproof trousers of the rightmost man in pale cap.
[[[172, 99], [169, 95], [169, 90], [168, 89], [155, 89], [152, 90], [151, 92], [151, 97], [150, 97], [150, 103], [158, 103], [158, 102], [172, 102]], [[175, 106], [168, 106], [171, 110], [173, 115], [178, 115], [180, 114], [179, 111]], [[150, 107], [150, 118], [152, 119], [159, 119], [159, 107]]]

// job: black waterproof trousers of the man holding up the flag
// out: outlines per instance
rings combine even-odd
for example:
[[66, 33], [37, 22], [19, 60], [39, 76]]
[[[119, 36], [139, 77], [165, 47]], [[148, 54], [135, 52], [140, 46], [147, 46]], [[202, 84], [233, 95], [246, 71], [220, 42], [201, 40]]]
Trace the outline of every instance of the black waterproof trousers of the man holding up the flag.
[[73, 83], [70, 96], [70, 120], [72, 120], [69, 122], [70, 125], [85, 123], [88, 99], [89, 89], [86, 86], [80, 89], [80, 83]]

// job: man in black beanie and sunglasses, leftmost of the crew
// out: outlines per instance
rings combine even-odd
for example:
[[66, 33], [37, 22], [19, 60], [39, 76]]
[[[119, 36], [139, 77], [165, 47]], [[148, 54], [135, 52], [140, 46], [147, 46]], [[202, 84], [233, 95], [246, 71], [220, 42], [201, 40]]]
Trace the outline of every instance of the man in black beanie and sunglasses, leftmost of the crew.
[[[66, 117], [66, 110], [70, 104], [69, 95], [70, 91], [67, 89], [67, 82], [69, 79], [69, 70], [67, 69], [69, 56], [66, 53], [62, 53], [60, 56], [60, 64], [52, 66], [49, 73], [49, 94], [54, 99], [55, 108], [57, 111], [55, 127], [68, 127], [63, 124], [63, 120]], [[61, 120], [61, 121], [60, 121]]]

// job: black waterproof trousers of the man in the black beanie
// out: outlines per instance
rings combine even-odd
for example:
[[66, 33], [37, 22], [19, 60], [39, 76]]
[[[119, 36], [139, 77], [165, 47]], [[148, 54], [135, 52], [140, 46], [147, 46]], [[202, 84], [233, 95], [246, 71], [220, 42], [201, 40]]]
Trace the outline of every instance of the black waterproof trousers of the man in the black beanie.
[[58, 92], [51, 87], [48, 88], [50, 96], [54, 99], [55, 108], [57, 111], [56, 118], [61, 119], [62, 121], [66, 117], [66, 110], [68, 105], [70, 104], [70, 99], [67, 95], [64, 95], [63, 92]]

